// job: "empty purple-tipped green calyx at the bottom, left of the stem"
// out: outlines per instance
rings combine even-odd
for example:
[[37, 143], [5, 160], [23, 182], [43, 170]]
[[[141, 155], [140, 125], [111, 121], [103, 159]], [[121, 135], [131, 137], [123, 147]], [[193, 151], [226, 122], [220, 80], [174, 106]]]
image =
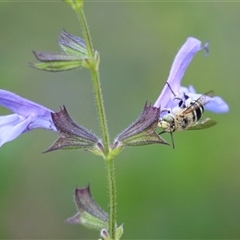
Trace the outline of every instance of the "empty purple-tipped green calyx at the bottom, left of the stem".
[[96, 230], [107, 229], [108, 214], [94, 202], [89, 185], [85, 188], [75, 189], [74, 201], [78, 213], [67, 219], [68, 223], [81, 224]]

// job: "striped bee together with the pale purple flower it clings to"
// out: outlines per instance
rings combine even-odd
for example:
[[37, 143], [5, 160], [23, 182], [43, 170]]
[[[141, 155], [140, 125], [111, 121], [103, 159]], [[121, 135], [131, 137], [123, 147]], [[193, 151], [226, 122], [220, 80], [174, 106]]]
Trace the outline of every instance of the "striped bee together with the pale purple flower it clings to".
[[[172, 133], [187, 129], [199, 130], [212, 127], [216, 124], [210, 118], [201, 120], [204, 110], [214, 113], [229, 111], [227, 103], [218, 96], [213, 96], [213, 90], [204, 94], [196, 93], [193, 86], [188, 88], [180, 85], [182, 77], [194, 55], [205, 49], [208, 43], [201, 46], [196, 38], [189, 37], [177, 53], [167, 82], [154, 104], [161, 109], [158, 126], [163, 129], [160, 133]], [[174, 147], [173, 137], [172, 144]]]

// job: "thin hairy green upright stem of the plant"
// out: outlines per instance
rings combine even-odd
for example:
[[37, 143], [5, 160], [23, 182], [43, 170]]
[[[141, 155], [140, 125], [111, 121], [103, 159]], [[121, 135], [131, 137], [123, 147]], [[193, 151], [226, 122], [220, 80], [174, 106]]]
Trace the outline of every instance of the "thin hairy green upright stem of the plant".
[[115, 239], [115, 223], [116, 223], [116, 179], [113, 157], [110, 157], [110, 141], [108, 134], [108, 127], [106, 121], [106, 114], [103, 105], [102, 90], [99, 78], [99, 59], [95, 56], [91, 36], [87, 26], [87, 21], [83, 10], [77, 11], [78, 18], [82, 25], [83, 35], [87, 46], [88, 56], [93, 59], [93, 64], [90, 67], [93, 90], [95, 94], [96, 107], [100, 121], [100, 127], [102, 132], [102, 139], [104, 145], [104, 160], [107, 170], [107, 182], [108, 182], [108, 194], [109, 194], [109, 235], [111, 239]]

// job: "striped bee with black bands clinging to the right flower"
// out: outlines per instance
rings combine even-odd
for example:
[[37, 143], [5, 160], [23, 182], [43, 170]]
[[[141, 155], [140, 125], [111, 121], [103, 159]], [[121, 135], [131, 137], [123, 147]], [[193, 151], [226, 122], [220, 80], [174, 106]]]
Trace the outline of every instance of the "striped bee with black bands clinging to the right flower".
[[[171, 88], [170, 90], [174, 94]], [[167, 110], [167, 114], [159, 119], [158, 126], [163, 129], [163, 131], [159, 134], [169, 132], [171, 134], [174, 148], [172, 137], [173, 132], [201, 130], [216, 125], [217, 122], [211, 120], [210, 118], [200, 120], [204, 113], [204, 105], [207, 103], [207, 97], [212, 97], [213, 95], [214, 91], [210, 90], [201, 95], [197, 100], [193, 100], [184, 94], [184, 98], [180, 99], [178, 106], [174, 107], [172, 112]], [[175, 94], [174, 96], [176, 97]]]

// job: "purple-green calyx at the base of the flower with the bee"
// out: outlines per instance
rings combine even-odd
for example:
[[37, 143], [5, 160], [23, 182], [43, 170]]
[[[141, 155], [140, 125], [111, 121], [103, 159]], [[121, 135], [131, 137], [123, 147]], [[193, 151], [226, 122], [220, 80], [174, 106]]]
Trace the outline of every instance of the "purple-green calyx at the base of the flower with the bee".
[[112, 149], [117, 152], [125, 146], [168, 144], [156, 133], [159, 116], [160, 108], [146, 102], [139, 118], [115, 138]]

